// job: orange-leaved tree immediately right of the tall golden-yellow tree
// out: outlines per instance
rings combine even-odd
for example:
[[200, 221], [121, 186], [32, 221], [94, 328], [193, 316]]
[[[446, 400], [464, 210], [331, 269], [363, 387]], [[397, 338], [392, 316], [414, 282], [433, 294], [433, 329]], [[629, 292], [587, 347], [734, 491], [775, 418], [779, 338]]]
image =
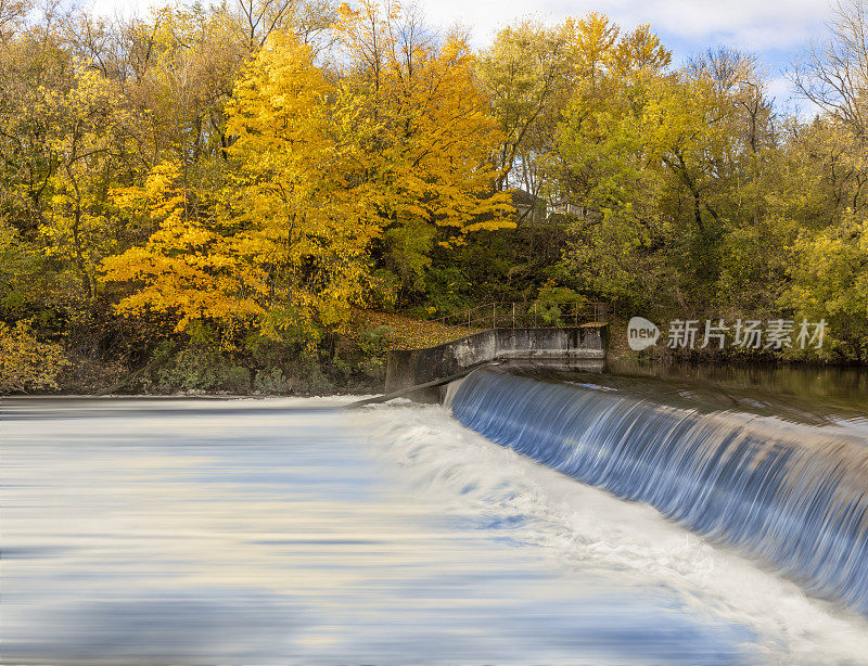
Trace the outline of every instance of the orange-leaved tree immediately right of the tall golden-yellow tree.
[[501, 141], [488, 100], [473, 80], [463, 38], [439, 43], [396, 2], [343, 5], [340, 100], [353, 123], [342, 141], [357, 154], [354, 178], [383, 228], [384, 262], [408, 282], [434, 244], [512, 227], [507, 192], [495, 191]]

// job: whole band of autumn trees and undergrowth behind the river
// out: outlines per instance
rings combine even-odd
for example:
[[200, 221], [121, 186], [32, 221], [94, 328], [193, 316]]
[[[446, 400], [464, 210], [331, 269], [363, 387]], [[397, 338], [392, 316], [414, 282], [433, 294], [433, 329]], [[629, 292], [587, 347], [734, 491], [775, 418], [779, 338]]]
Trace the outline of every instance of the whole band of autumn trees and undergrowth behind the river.
[[363, 389], [492, 300], [825, 319], [781, 356], [866, 362], [861, 9], [804, 120], [593, 13], [474, 53], [393, 2], [2, 3], [0, 393]]

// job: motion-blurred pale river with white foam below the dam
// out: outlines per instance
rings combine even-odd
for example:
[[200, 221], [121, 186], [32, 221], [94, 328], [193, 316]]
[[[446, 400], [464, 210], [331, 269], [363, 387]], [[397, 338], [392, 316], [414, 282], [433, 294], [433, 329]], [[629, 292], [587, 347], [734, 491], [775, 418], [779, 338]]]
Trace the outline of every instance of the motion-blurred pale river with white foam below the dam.
[[340, 402], [5, 400], [3, 663], [865, 663], [868, 622], [750, 539]]

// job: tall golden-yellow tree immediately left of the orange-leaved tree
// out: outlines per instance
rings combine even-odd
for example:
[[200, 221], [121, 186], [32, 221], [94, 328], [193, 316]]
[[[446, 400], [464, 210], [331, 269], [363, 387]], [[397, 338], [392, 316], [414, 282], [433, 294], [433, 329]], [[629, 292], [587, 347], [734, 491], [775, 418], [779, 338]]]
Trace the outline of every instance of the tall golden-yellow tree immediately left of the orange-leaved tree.
[[356, 155], [335, 137], [352, 105], [334, 90], [309, 47], [275, 33], [247, 68], [229, 106], [237, 182], [228, 196], [235, 247], [263, 285], [263, 331], [309, 345], [349, 319], [380, 233], [369, 197], [352, 180]]

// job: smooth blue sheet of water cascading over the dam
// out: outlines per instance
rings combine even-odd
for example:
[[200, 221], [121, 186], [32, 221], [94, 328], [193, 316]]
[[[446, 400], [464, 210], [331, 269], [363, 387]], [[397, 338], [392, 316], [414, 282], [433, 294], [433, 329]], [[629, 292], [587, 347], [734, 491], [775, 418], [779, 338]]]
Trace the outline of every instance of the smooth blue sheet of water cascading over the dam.
[[593, 384], [477, 370], [465, 426], [868, 614], [868, 443], [834, 426], [691, 409]]

